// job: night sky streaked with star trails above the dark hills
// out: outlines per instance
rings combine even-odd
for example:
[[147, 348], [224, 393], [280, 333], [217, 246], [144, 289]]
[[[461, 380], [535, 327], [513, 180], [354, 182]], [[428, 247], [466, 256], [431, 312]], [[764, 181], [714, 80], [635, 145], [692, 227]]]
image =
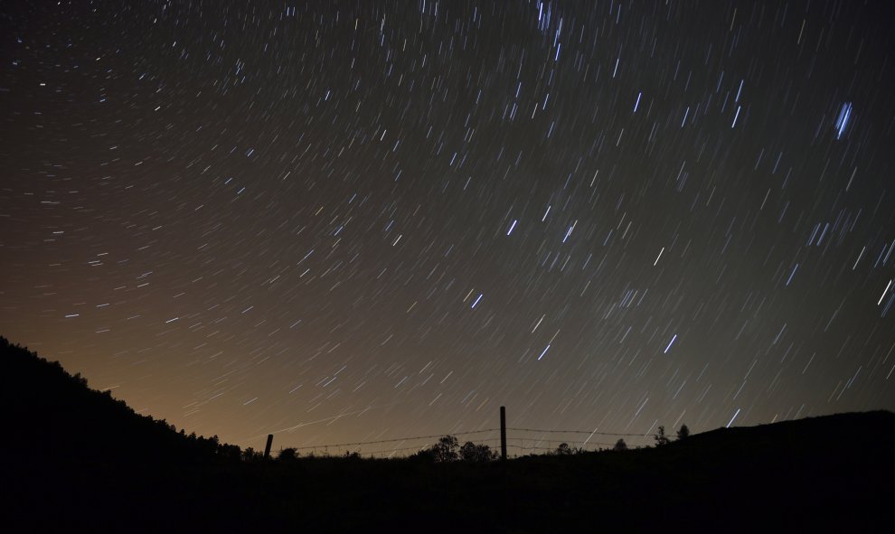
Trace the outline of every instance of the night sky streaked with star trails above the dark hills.
[[0, 334], [256, 449], [895, 409], [887, 4], [4, 2]]

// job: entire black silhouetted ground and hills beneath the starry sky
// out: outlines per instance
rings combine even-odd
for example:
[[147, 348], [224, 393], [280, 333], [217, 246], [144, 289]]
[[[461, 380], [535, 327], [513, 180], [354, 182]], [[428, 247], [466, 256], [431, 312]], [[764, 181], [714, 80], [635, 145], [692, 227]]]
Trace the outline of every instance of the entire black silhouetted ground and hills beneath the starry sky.
[[874, 531], [895, 414], [718, 429], [628, 451], [438, 464], [240, 459], [0, 338], [4, 524], [43, 530]]

